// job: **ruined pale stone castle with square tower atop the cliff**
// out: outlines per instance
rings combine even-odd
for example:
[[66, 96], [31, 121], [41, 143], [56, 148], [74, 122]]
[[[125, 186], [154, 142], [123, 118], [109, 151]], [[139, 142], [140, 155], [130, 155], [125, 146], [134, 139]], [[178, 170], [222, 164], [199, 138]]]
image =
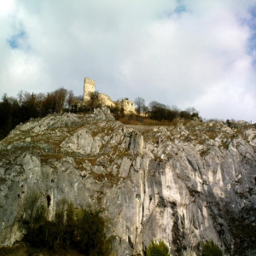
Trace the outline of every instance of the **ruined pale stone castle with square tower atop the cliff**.
[[[84, 102], [90, 101], [90, 94], [96, 91], [96, 81], [88, 78], [84, 78]], [[120, 105], [120, 107], [124, 108], [125, 113], [135, 113], [134, 102], [125, 98], [121, 101], [113, 102], [110, 96], [99, 93], [100, 101], [102, 102], [102, 106], [107, 107], [116, 107]]]

